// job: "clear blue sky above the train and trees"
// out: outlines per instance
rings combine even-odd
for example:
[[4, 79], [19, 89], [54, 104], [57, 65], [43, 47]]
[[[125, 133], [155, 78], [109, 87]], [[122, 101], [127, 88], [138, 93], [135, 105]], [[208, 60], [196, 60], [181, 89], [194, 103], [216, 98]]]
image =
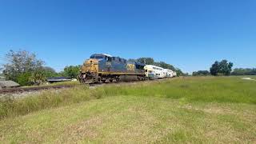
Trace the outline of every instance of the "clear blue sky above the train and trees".
[[226, 58], [256, 67], [255, 0], [1, 0], [0, 63], [29, 50], [62, 70], [94, 53], [152, 57], [185, 72]]

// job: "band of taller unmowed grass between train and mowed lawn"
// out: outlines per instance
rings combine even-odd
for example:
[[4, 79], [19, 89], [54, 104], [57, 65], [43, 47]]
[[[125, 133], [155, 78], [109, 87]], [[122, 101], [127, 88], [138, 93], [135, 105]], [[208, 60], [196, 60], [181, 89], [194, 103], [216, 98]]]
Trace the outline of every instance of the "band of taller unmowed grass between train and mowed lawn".
[[75, 86], [47, 90], [38, 95], [0, 102], [0, 118], [29, 114], [36, 110], [66, 106], [110, 96], [176, 98], [182, 102], [238, 102], [256, 104], [256, 82], [238, 77], [174, 78], [163, 81], [100, 86]]

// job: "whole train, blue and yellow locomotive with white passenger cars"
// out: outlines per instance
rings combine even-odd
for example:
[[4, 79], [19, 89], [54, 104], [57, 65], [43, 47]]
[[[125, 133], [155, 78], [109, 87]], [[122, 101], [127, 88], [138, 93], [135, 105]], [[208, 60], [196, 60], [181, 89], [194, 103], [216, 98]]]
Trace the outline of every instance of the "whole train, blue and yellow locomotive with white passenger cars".
[[146, 79], [172, 78], [173, 70], [130, 62], [110, 54], [92, 54], [81, 66], [78, 79], [81, 83], [118, 82], [122, 76], [133, 76], [138, 81]]

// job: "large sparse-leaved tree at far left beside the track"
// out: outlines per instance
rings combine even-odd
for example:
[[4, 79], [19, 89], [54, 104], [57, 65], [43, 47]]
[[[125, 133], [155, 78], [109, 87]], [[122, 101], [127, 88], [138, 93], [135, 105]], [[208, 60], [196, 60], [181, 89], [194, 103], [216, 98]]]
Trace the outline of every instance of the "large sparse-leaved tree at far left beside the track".
[[13, 80], [23, 85], [30, 85], [30, 76], [34, 71], [42, 70], [44, 62], [38, 58], [34, 53], [26, 50], [10, 50], [6, 54], [7, 63], [3, 65], [3, 74], [7, 80]]

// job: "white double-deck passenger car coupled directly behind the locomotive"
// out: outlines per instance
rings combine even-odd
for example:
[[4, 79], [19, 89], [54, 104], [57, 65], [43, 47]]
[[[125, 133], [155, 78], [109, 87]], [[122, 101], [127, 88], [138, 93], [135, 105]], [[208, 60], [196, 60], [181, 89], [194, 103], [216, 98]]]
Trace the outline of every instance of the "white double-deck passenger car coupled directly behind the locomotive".
[[166, 72], [162, 67], [146, 65], [144, 66], [144, 69], [146, 71], [146, 78], [158, 79], [166, 77]]

